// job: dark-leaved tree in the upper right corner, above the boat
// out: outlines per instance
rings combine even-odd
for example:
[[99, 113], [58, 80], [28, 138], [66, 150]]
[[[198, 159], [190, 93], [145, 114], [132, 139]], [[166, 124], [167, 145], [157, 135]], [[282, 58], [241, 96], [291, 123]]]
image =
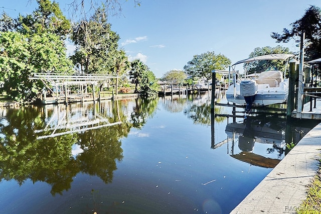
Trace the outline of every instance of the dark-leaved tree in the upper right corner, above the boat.
[[321, 9], [316, 6], [308, 8], [301, 19], [290, 24], [290, 29], [283, 29], [282, 34], [271, 33], [276, 42], [289, 42], [294, 39], [300, 42], [300, 36], [305, 33], [305, 56], [308, 60], [321, 57]]

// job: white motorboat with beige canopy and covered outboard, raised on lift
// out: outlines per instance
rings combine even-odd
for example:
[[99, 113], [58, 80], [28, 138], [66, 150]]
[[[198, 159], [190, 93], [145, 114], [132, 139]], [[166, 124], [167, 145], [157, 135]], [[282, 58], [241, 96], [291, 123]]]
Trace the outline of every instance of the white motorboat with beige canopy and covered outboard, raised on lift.
[[[235, 104], [246, 104], [245, 111], [251, 111], [252, 105], [264, 106], [277, 103], [285, 103], [288, 96], [288, 78], [285, 78], [285, 71], [268, 70], [259, 73], [258, 77], [247, 79], [247, 63], [259, 60], [283, 60], [288, 64], [289, 58], [295, 58], [293, 54], [268, 54], [240, 60], [232, 65], [233, 83], [226, 91], [228, 102]], [[246, 63], [245, 78], [237, 79], [235, 65]], [[234, 66], [234, 67], [233, 67]]]

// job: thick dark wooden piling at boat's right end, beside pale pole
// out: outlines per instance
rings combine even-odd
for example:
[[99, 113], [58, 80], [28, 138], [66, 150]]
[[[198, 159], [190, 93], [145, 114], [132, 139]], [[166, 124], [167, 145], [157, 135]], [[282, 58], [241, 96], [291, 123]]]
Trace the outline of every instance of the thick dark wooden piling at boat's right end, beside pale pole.
[[296, 60], [295, 59], [291, 59], [289, 61], [290, 63], [290, 67], [289, 67], [289, 94], [287, 97], [287, 105], [286, 105], [286, 118], [289, 119], [291, 118], [291, 114], [294, 110], [294, 97], [295, 97], [295, 93], [294, 93], [294, 86], [295, 86], [295, 64], [296, 64]]

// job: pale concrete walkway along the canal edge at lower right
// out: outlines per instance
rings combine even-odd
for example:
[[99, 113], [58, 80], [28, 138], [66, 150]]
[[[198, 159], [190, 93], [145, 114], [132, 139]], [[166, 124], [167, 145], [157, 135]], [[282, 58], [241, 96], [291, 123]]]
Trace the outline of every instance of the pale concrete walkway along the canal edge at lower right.
[[[309, 131], [231, 213], [295, 213], [321, 159], [321, 124]], [[309, 207], [313, 210], [313, 207]]]

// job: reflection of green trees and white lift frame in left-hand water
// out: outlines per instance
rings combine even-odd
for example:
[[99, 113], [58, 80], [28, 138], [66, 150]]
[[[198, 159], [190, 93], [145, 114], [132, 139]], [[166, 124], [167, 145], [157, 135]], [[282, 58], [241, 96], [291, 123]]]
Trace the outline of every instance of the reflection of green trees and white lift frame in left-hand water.
[[[46, 182], [52, 195], [70, 189], [79, 172], [111, 182], [116, 161], [123, 158], [121, 138], [130, 128], [143, 126], [157, 106], [157, 99], [140, 99], [135, 106], [121, 105], [122, 109], [119, 102], [2, 109], [0, 180], [14, 179], [20, 185], [27, 179]], [[114, 122], [121, 123], [104, 126]], [[56, 137], [50, 137], [53, 133]], [[83, 152], [74, 157], [75, 144]]]

